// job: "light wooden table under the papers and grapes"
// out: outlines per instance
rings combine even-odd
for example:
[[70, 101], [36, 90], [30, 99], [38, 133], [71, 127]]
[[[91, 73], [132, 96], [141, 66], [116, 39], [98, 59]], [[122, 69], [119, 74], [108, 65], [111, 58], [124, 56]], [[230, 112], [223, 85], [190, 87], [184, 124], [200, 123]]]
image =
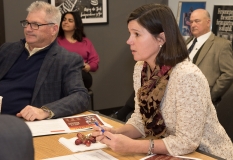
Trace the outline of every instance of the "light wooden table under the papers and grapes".
[[[84, 112], [83, 114], [90, 114], [90, 113], [91, 112]], [[101, 114], [99, 114], [99, 116], [102, 118], [103, 121], [105, 121], [106, 123], [114, 127], [120, 127], [124, 125], [120, 121], [110, 119], [110, 117], [107, 117]], [[88, 134], [89, 132], [91, 131], [84, 132], [84, 134]], [[68, 133], [68, 134], [34, 137], [33, 142], [34, 142], [34, 149], [35, 149], [35, 160], [75, 154], [74, 152], [71, 152], [69, 149], [67, 149], [62, 144], [60, 144], [60, 142], [58, 141], [58, 139], [61, 137], [73, 138], [75, 136], [76, 136], [76, 133]], [[139, 160], [146, 156], [145, 154], [119, 154], [119, 153], [113, 152], [110, 148], [104, 148], [102, 150], [119, 160]], [[185, 156], [200, 158], [203, 160], [216, 160], [215, 158], [211, 158], [199, 152], [194, 152], [192, 154], [188, 154]]]

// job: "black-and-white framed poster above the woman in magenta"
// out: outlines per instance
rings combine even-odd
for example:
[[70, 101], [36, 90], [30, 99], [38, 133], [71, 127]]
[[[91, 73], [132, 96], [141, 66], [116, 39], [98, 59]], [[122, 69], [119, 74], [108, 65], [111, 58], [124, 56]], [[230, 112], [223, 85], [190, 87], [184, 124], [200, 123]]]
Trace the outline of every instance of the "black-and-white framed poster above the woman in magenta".
[[83, 23], [107, 23], [107, 0], [49, 0], [61, 13], [79, 11]]

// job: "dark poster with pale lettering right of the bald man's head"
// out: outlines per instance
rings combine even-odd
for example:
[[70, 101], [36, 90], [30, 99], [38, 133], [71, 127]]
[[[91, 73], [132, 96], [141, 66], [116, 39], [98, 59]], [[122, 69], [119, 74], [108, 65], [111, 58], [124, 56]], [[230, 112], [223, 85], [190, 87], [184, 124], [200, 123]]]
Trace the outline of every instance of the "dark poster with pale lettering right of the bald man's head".
[[228, 39], [233, 46], [233, 6], [215, 5], [213, 11], [212, 32]]

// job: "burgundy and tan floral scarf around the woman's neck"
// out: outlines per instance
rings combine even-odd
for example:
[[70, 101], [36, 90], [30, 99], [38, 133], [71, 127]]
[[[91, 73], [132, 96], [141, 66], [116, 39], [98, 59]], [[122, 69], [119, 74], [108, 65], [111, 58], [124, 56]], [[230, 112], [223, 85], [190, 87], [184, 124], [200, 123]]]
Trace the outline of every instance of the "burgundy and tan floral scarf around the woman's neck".
[[141, 83], [142, 87], [138, 90], [138, 102], [142, 119], [145, 122], [146, 135], [160, 137], [166, 129], [160, 103], [163, 98], [169, 75], [172, 71], [170, 66], [156, 66], [148, 77], [147, 73], [150, 68], [144, 62], [142, 69]]

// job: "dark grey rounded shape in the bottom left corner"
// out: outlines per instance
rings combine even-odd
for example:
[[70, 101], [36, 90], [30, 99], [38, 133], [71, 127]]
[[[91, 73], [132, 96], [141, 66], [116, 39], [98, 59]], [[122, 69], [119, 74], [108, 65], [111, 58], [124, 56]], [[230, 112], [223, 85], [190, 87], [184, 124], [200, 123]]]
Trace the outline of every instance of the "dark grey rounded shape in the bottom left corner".
[[34, 160], [32, 133], [22, 119], [0, 115], [0, 159]]

